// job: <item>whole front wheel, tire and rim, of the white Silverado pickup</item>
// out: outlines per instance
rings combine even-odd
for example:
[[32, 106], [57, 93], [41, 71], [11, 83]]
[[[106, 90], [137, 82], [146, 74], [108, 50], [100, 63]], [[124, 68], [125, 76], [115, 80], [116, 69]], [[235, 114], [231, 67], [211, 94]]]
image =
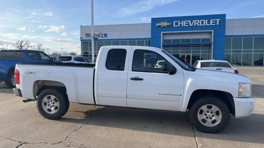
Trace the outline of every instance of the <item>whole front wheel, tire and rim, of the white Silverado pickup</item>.
[[216, 97], [199, 98], [193, 103], [189, 113], [192, 125], [205, 133], [223, 131], [230, 121], [227, 105]]

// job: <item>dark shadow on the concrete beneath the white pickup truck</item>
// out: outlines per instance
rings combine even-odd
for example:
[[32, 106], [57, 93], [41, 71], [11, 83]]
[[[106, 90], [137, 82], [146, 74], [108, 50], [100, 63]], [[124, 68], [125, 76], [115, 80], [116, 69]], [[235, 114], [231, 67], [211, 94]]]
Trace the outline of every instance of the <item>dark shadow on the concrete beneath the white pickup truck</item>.
[[[84, 119], [61, 118], [58, 121], [194, 137], [187, 112], [97, 107]], [[264, 143], [264, 115], [253, 113], [239, 119], [231, 115], [228, 127], [217, 134], [194, 131], [197, 138]]]

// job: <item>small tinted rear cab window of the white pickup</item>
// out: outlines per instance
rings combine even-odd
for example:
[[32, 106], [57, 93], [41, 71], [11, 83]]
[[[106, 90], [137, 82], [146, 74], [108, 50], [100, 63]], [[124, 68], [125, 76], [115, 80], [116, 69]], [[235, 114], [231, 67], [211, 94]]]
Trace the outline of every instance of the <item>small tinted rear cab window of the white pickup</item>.
[[107, 53], [106, 68], [109, 70], [124, 71], [126, 62], [125, 49], [111, 49]]

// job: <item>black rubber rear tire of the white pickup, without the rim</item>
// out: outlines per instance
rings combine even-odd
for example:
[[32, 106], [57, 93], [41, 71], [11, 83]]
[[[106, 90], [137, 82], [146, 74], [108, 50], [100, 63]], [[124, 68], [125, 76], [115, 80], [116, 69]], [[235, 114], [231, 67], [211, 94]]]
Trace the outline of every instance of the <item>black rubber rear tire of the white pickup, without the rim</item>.
[[[47, 113], [42, 107], [42, 100], [44, 99], [44, 97], [46, 97], [48, 95], [55, 96], [57, 101], [59, 102], [59, 107], [58, 107], [56, 113], [53, 113], [53, 114]], [[50, 120], [59, 119], [60, 117], [64, 116], [65, 113], [67, 113], [67, 111], [69, 109], [69, 104], [70, 103], [69, 103], [69, 100], [68, 100], [68, 97], [66, 94], [61, 94], [56, 89], [51, 89], [51, 88], [47, 88], [47, 89], [41, 91], [40, 94], [38, 95], [38, 98], [37, 98], [37, 109], [38, 109], [39, 113], [44, 118], [47, 118]]]

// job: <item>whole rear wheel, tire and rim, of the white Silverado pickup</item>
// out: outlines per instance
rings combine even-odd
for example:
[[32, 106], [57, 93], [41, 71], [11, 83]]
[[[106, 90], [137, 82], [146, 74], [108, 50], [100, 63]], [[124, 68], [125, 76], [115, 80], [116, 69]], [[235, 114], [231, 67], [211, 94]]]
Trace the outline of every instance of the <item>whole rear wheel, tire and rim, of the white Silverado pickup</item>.
[[43, 117], [55, 120], [67, 113], [69, 100], [66, 94], [63, 95], [56, 89], [48, 88], [38, 95], [37, 109]]

